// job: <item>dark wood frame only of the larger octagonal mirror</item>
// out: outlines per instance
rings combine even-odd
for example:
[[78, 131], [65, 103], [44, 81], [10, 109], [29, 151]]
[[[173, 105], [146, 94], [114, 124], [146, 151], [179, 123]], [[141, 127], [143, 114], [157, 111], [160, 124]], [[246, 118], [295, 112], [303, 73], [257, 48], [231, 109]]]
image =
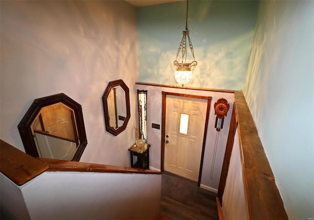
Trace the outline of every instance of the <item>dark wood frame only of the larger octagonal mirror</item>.
[[65, 104], [74, 111], [78, 129], [79, 145], [77, 146], [77, 151], [72, 160], [79, 161], [87, 145], [82, 107], [80, 104], [78, 104], [78, 102], [74, 101], [72, 98], [69, 98], [63, 93], [44, 98], [37, 98], [33, 101], [31, 106], [27, 110], [25, 116], [18, 125], [25, 151], [27, 154], [33, 157], [39, 157], [31, 130], [31, 124], [36, 119], [38, 113], [43, 107], [59, 102], [62, 102], [63, 104]]

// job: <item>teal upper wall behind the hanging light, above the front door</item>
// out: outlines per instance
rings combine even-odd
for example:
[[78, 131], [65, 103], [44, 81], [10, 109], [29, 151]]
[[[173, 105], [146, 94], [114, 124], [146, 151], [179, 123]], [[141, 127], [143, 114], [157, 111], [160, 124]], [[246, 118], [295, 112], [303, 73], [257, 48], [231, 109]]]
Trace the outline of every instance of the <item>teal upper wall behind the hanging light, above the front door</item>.
[[[189, 1], [188, 29], [198, 65], [187, 86], [242, 90], [257, 7], [252, 0]], [[176, 85], [173, 61], [185, 14], [186, 1], [137, 8], [138, 81]]]

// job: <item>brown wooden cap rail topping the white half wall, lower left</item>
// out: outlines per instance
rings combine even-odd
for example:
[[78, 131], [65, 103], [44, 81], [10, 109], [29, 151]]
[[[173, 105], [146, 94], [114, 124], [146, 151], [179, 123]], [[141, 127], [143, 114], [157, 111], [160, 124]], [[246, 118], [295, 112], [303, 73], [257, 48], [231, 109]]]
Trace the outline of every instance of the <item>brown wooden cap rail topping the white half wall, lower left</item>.
[[18, 186], [24, 185], [45, 171], [161, 174], [159, 171], [130, 167], [34, 158], [2, 140], [0, 140], [0, 165], [1, 173]]

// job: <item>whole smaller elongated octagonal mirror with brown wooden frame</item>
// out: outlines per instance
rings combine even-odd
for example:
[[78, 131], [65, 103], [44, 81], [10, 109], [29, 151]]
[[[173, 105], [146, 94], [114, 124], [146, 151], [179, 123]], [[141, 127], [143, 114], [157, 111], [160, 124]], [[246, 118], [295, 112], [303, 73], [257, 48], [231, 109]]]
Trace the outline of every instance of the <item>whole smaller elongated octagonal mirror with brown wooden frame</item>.
[[106, 131], [117, 136], [126, 129], [131, 116], [129, 88], [122, 79], [108, 83], [103, 105]]

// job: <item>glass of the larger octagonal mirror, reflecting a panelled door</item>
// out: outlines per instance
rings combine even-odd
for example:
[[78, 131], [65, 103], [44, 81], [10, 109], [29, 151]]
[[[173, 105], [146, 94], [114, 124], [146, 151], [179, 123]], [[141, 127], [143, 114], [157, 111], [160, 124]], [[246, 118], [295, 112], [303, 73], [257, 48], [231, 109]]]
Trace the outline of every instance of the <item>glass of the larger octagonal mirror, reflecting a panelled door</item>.
[[30, 127], [39, 157], [72, 160], [79, 139], [71, 108], [62, 102], [43, 107]]

